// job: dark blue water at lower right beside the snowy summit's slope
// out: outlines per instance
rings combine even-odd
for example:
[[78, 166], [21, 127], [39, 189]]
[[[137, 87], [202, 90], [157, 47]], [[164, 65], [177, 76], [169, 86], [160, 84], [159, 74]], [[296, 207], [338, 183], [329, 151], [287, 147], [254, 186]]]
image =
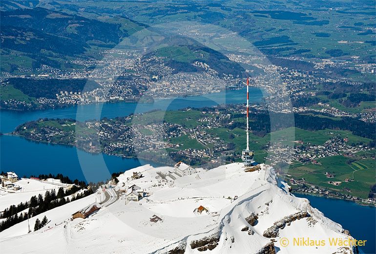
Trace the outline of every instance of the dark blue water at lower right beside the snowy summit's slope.
[[325, 198], [313, 195], [294, 194], [297, 197], [307, 198], [314, 208], [320, 210], [331, 220], [350, 231], [357, 240], [367, 240], [360, 251], [367, 254], [376, 253], [376, 208], [360, 206], [354, 202]]

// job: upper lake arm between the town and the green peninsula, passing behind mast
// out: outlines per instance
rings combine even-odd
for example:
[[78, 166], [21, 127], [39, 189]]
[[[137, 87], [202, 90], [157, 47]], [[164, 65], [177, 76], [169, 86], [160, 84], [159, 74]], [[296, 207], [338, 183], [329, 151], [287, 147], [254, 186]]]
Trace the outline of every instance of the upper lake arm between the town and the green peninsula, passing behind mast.
[[[263, 94], [260, 89], [250, 87], [250, 102], [261, 101]], [[71, 106], [45, 110], [15, 111], [0, 109], [0, 131], [13, 131], [24, 122], [39, 118], [72, 118], [77, 120], [113, 118], [126, 116], [131, 113], [142, 113], [152, 109], [176, 110], [190, 107], [215, 106], [222, 104], [239, 104], [246, 102], [246, 91], [228, 90], [205, 96], [177, 97], [174, 99], [155, 100], [151, 104], [138, 103], [99, 103], [90, 105]]]

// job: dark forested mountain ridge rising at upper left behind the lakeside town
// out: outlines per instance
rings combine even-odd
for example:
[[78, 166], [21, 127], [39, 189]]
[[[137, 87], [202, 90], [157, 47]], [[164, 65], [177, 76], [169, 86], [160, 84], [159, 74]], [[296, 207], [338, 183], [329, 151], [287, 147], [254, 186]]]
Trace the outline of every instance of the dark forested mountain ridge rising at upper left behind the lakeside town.
[[[141, 27], [141, 23], [128, 22]], [[1, 11], [1, 70], [12, 72], [19, 66], [34, 69], [41, 64], [58, 69], [72, 68], [67, 58], [90, 58], [87, 52], [93, 46], [112, 48], [129, 36], [134, 27], [129, 32], [120, 23], [41, 7]], [[11, 55], [17, 55], [20, 61], [15, 61]]]

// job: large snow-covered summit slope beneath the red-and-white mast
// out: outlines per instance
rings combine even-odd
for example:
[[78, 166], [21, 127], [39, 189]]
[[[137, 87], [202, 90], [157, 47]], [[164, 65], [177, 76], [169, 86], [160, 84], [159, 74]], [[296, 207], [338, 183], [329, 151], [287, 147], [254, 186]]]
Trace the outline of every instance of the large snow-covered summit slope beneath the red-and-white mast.
[[[278, 187], [275, 174], [268, 166], [245, 172], [242, 164], [233, 163], [211, 170], [198, 169], [197, 173], [176, 180], [168, 176], [163, 179], [161, 175], [168, 175], [168, 171], [173, 168], [150, 165], [126, 171], [118, 177], [119, 183], [114, 189], [126, 189], [135, 184], [146, 192], [141, 201], [125, 205], [123, 196], [86, 219], [71, 221], [73, 212], [103, 194], [90, 195], [38, 215], [51, 219], [49, 225], [53, 227], [48, 230], [43, 228], [27, 234], [27, 222], [22, 222], [1, 232], [1, 250], [18, 254], [193, 254], [204, 250], [204, 253], [321, 254], [335, 253], [338, 247], [282, 247], [279, 239], [349, 237], [342, 233], [339, 224], [313, 209], [307, 199], [292, 196], [286, 191], [287, 186]], [[142, 172], [144, 177], [129, 180], [133, 172]], [[235, 196], [238, 198], [234, 200]], [[194, 212], [200, 206], [208, 212]], [[277, 235], [264, 236], [274, 222], [303, 212], [309, 215], [299, 215], [297, 219], [295, 216], [278, 229]], [[162, 221], [151, 222], [153, 215]], [[35, 219], [31, 219], [32, 225]], [[41, 241], [42, 245], [35, 244]], [[341, 251], [352, 253], [350, 249]]]

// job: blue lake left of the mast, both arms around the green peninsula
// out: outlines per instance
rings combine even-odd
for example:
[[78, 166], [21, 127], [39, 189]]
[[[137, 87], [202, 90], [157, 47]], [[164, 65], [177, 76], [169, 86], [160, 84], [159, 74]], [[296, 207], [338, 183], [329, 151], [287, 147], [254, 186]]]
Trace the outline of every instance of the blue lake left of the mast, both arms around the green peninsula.
[[[251, 87], [250, 101], [263, 97], [260, 89]], [[18, 125], [39, 118], [72, 118], [79, 121], [126, 116], [152, 109], [175, 110], [190, 107], [239, 104], [246, 101], [245, 89], [229, 90], [205, 96], [156, 100], [152, 104], [106, 103], [33, 111], [0, 111], [0, 131], [8, 133]], [[74, 147], [28, 141], [17, 136], [0, 136], [0, 170], [15, 171], [19, 176], [41, 173], [63, 173], [79, 180], [99, 181], [110, 173], [155, 163], [105, 154], [91, 154]]]

